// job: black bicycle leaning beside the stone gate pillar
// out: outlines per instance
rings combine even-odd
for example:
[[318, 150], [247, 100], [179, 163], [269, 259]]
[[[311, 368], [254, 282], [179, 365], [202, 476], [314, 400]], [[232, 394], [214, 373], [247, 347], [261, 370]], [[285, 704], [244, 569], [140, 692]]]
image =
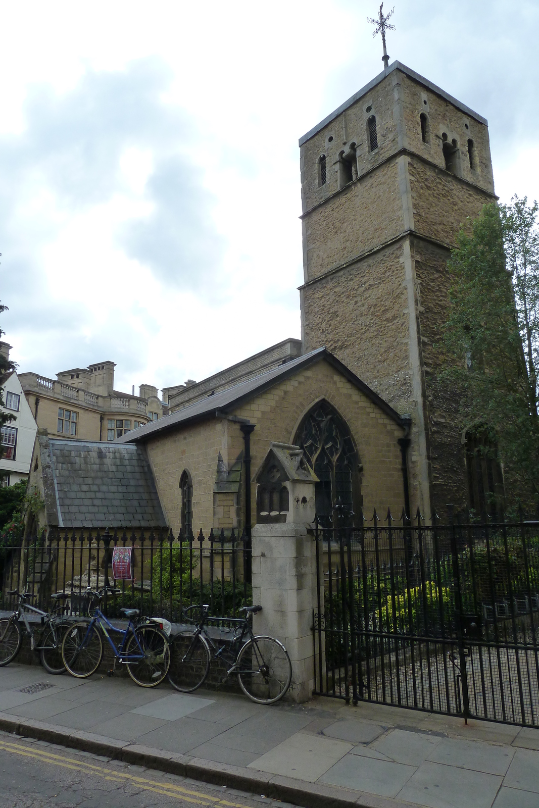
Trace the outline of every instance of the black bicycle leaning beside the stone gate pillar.
[[[246, 617], [209, 617], [208, 604], [197, 604], [183, 609], [185, 619], [192, 620], [190, 613], [200, 610], [200, 619], [194, 629], [183, 629], [172, 638], [171, 667], [168, 679], [172, 687], [183, 693], [200, 688], [206, 680], [213, 659], [223, 659], [229, 665], [226, 676], [236, 676], [238, 684], [251, 701], [271, 705], [279, 701], [290, 687], [292, 664], [282, 642], [264, 635], [255, 636], [250, 625], [253, 614], [262, 611], [262, 606], [244, 606], [239, 611]], [[225, 645], [217, 648], [206, 630], [208, 624], [229, 624], [221, 627]]]

